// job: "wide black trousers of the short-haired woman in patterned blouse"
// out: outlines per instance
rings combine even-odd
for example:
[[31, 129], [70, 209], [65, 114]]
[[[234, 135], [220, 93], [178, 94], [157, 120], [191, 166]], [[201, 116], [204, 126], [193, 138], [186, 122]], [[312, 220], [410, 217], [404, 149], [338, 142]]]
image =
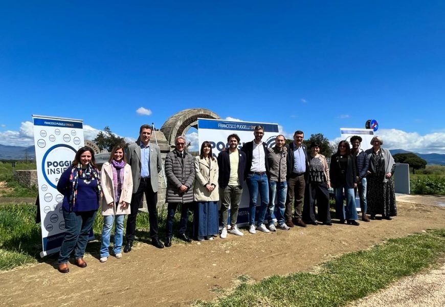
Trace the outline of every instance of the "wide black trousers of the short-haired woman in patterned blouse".
[[318, 207], [318, 221], [330, 223], [329, 191], [325, 182], [310, 182], [306, 184], [303, 205], [303, 221], [315, 222], [315, 201]]

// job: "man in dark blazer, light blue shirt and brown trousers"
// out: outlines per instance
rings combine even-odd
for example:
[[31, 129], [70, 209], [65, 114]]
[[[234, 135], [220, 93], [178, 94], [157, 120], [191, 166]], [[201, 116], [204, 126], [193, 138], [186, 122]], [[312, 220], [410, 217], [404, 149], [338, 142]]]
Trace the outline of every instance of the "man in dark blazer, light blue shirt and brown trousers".
[[[294, 133], [294, 142], [286, 145], [287, 148], [287, 195], [286, 195], [286, 225], [294, 227], [292, 211], [294, 211], [295, 223], [300, 227], [306, 227], [302, 221], [304, 189], [306, 187], [306, 173], [309, 170], [307, 160], [307, 148], [303, 144], [304, 133], [297, 130]], [[294, 210], [292, 209], [294, 203]]]

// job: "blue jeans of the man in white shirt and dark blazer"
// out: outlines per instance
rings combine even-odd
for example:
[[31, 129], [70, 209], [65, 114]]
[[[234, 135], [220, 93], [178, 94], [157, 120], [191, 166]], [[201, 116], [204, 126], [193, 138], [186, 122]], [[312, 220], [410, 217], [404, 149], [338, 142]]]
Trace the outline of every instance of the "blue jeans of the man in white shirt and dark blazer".
[[250, 203], [249, 203], [249, 225], [255, 225], [256, 201], [258, 198], [258, 189], [261, 196], [261, 206], [258, 212], [258, 225], [263, 224], [264, 216], [269, 205], [269, 180], [264, 173], [248, 174], [247, 186], [249, 187]]

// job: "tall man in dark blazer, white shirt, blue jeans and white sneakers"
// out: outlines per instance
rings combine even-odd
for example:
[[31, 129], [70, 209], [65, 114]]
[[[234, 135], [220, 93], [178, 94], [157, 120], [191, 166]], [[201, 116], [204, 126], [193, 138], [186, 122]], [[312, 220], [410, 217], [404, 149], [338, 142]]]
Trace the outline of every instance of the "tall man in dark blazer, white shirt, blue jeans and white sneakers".
[[255, 139], [251, 142], [244, 143], [241, 150], [246, 153], [246, 176], [247, 186], [249, 187], [249, 232], [254, 234], [255, 230], [255, 210], [258, 198], [258, 190], [261, 196], [261, 205], [258, 212], [257, 230], [262, 232], [270, 232], [264, 225], [264, 216], [269, 205], [269, 162], [268, 162], [268, 145], [261, 142], [264, 136], [264, 128], [255, 126]]

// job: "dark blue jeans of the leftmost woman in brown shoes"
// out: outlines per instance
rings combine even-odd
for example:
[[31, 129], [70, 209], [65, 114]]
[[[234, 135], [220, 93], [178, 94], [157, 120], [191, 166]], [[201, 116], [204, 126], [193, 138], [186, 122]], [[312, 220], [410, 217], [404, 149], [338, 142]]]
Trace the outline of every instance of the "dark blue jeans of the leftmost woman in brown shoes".
[[63, 208], [65, 236], [60, 246], [59, 265], [66, 264], [70, 260], [73, 250], [76, 259], [83, 258], [96, 212], [96, 210], [69, 212]]

